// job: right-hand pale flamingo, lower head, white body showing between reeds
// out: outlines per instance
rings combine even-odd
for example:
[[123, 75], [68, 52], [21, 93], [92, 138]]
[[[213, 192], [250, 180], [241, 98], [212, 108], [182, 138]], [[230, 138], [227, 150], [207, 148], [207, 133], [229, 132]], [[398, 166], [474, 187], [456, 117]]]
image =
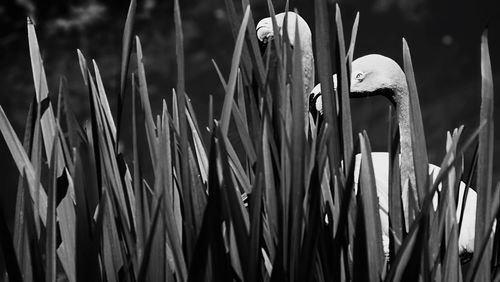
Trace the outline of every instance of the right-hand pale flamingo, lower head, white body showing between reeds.
[[[336, 85], [336, 75], [333, 76]], [[311, 91], [314, 104], [311, 107], [321, 115], [323, 112], [321, 103], [320, 85], [316, 85]], [[396, 108], [400, 132], [400, 168], [401, 183], [411, 183], [415, 187], [415, 174], [412, 171], [413, 151], [411, 147], [410, 131], [410, 105], [409, 92], [406, 76], [401, 67], [394, 60], [379, 55], [371, 54], [360, 57], [352, 62], [350, 96], [353, 98], [382, 95], [388, 98]], [[389, 253], [389, 153], [372, 153], [373, 169], [375, 174], [375, 185], [379, 198], [380, 220], [382, 226], [382, 240], [384, 253]], [[359, 183], [359, 172], [361, 155], [356, 155], [354, 176], [356, 187]], [[429, 164], [429, 174], [436, 179], [440, 168]], [[462, 228], [458, 238], [459, 254], [465, 255], [474, 252], [474, 232], [476, 223], [476, 201], [477, 194], [473, 189], [467, 188], [464, 182], [459, 186], [459, 202], [457, 204], [456, 218], [460, 218], [462, 199], [465, 189], [469, 189], [465, 210], [462, 219]], [[436, 207], [434, 198], [434, 207]], [[402, 201], [405, 210], [408, 209], [408, 186], [402, 187]]]

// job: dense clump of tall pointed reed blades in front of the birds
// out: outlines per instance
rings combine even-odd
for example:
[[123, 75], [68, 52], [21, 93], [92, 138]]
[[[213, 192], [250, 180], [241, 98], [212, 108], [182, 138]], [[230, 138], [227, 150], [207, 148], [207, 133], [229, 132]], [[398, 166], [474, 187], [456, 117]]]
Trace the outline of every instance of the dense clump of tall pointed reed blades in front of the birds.
[[[413, 153], [420, 156], [413, 162], [418, 201], [410, 205], [415, 217], [405, 228], [399, 139], [392, 125], [388, 148], [393, 235], [386, 259], [370, 141], [365, 132], [353, 138], [351, 129], [348, 77], [358, 21], [346, 52], [338, 6], [336, 29], [330, 30], [327, 1], [314, 1], [316, 69], [325, 116], [321, 126], [308, 125], [301, 50], [298, 44], [290, 47], [300, 34], [288, 38], [284, 32], [281, 37], [275, 30], [261, 55], [249, 1], [237, 7], [227, 0], [226, 5], [235, 47], [227, 80], [215, 64], [225, 99], [220, 115], [210, 104], [209, 144], [201, 137], [200, 124], [205, 122], [196, 118], [185, 92], [178, 0], [178, 81], [171, 109], [164, 101], [161, 113], [151, 111], [141, 42], [133, 37], [132, 0], [123, 35], [116, 123], [98, 66], [80, 51], [90, 123], [76, 121], [63, 105], [61, 92], [57, 103], [50, 100], [35, 29], [28, 21], [36, 97], [22, 142], [0, 108], [0, 130], [20, 172], [13, 230], [0, 218], [7, 262], [0, 280], [498, 281], [500, 232], [494, 220], [499, 218], [500, 186], [494, 189], [492, 183], [493, 85], [487, 33], [481, 42], [480, 125], [464, 142], [459, 143], [462, 127], [447, 136], [447, 154], [436, 181], [426, 171], [417, 88], [409, 48], [403, 44]], [[268, 6], [274, 20], [270, 1]], [[130, 62], [132, 52], [136, 62]], [[333, 66], [339, 70], [338, 91], [332, 85]], [[122, 115], [127, 88], [132, 117]], [[132, 121], [132, 163], [126, 163], [118, 149], [125, 119]], [[231, 124], [236, 125], [241, 148], [228, 138]], [[138, 146], [141, 138], [147, 147]], [[467, 173], [463, 154], [474, 143], [477, 165]], [[358, 148], [362, 160], [355, 193]], [[153, 169], [152, 182], [143, 177], [146, 167]], [[472, 174], [478, 195], [475, 252], [465, 269], [458, 255], [461, 220], [455, 217], [454, 195], [460, 180], [470, 180]], [[439, 204], [433, 208], [436, 193]]]

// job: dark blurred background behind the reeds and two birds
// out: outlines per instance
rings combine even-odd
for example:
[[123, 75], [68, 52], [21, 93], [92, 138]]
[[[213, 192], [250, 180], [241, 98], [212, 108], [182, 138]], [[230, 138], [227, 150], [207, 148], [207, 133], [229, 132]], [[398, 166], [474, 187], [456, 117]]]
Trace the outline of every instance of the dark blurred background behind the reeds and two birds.
[[[121, 38], [128, 1], [3, 0], [0, 3], [0, 105], [19, 136], [34, 95], [26, 36], [26, 16], [34, 18], [51, 95], [61, 77], [71, 110], [81, 122], [88, 117], [88, 95], [83, 86], [76, 49], [100, 67], [112, 108], [118, 90]], [[234, 41], [223, 0], [180, 1], [186, 54], [186, 89], [201, 125], [208, 116], [209, 95], [220, 112], [223, 89], [211, 59], [227, 76]], [[240, 3], [240, 1], [235, 1]], [[251, 0], [256, 21], [268, 16], [265, 0]], [[487, 24], [495, 84], [500, 85], [499, 1], [350, 0], [339, 1], [346, 38], [360, 12], [355, 57], [380, 53], [402, 63], [401, 38], [412, 51], [427, 138], [429, 160], [444, 156], [445, 134], [461, 124], [465, 134], [477, 126], [480, 107], [480, 35]], [[277, 12], [285, 1], [273, 1]], [[312, 26], [313, 1], [290, 1]], [[333, 12], [333, 10], [331, 11]], [[173, 1], [138, 1], [135, 33], [140, 36], [153, 114], [161, 99], [170, 104], [175, 87]], [[132, 66], [134, 67], [134, 66]], [[352, 101], [354, 132], [367, 129], [374, 151], [386, 151], [387, 109], [384, 98]], [[496, 113], [498, 132], [500, 110]], [[125, 118], [124, 122], [130, 122]], [[125, 124], [125, 123], [124, 123]], [[130, 136], [125, 126], [124, 136]], [[495, 138], [495, 161], [500, 159], [500, 138]], [[130, 140], [123, 149], [130, 153]], [[7, 214], [14, 206], [18, 172], [0, 138], [0, 205]], [[500, 180], [496, 166], [495, 182]]]

